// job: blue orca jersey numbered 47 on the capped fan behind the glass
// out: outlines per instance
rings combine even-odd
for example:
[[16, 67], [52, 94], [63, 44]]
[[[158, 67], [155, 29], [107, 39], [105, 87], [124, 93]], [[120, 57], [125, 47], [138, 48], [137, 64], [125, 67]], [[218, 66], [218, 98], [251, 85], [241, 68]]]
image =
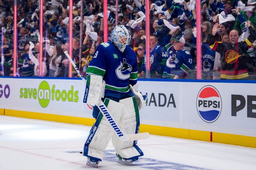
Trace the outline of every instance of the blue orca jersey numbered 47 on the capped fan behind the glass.
[[178, 75], [179, 78], [185, 78], [193, 67], [192, 56], [185, 50], [175, 50], [171, 46], [169, 58], [166, 61], [163, 78], [174, 78]]

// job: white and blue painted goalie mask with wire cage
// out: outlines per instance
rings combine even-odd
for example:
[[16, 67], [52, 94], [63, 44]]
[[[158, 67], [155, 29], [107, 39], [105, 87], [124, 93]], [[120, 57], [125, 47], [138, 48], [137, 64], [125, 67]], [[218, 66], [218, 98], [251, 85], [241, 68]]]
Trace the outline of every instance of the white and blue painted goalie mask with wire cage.
[[131, 40], [131, 35], [127, 28], [123, 25], [117, 25], [111, 32], [111, 41], [116, 44], [116, 47], [123, 53], [126, 45]]

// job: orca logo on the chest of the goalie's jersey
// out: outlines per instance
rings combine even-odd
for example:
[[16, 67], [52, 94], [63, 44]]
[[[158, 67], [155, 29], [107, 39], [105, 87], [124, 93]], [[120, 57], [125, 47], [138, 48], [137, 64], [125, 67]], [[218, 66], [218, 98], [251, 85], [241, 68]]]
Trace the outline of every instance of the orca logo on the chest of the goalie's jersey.
[[116, 69], [116, 76], [122, 80], [125, 80], [127, 78], [130, 78], [130, 73], [132, 71], [132, 66], [127, 63], [126, 59], [124, 58], [123, 63], [120, 62], [121, 64], [117, 67]]

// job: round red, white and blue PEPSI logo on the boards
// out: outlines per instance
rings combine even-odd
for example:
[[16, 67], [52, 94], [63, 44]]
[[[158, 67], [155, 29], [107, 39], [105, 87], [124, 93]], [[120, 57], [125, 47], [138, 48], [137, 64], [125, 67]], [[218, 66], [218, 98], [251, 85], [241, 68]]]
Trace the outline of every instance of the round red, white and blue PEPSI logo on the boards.
[[215, 122], [221, 113], [222, 101], [218, 90], [211, 86], [204, 86], [196, 98], [196, 108], [204, 122]]

